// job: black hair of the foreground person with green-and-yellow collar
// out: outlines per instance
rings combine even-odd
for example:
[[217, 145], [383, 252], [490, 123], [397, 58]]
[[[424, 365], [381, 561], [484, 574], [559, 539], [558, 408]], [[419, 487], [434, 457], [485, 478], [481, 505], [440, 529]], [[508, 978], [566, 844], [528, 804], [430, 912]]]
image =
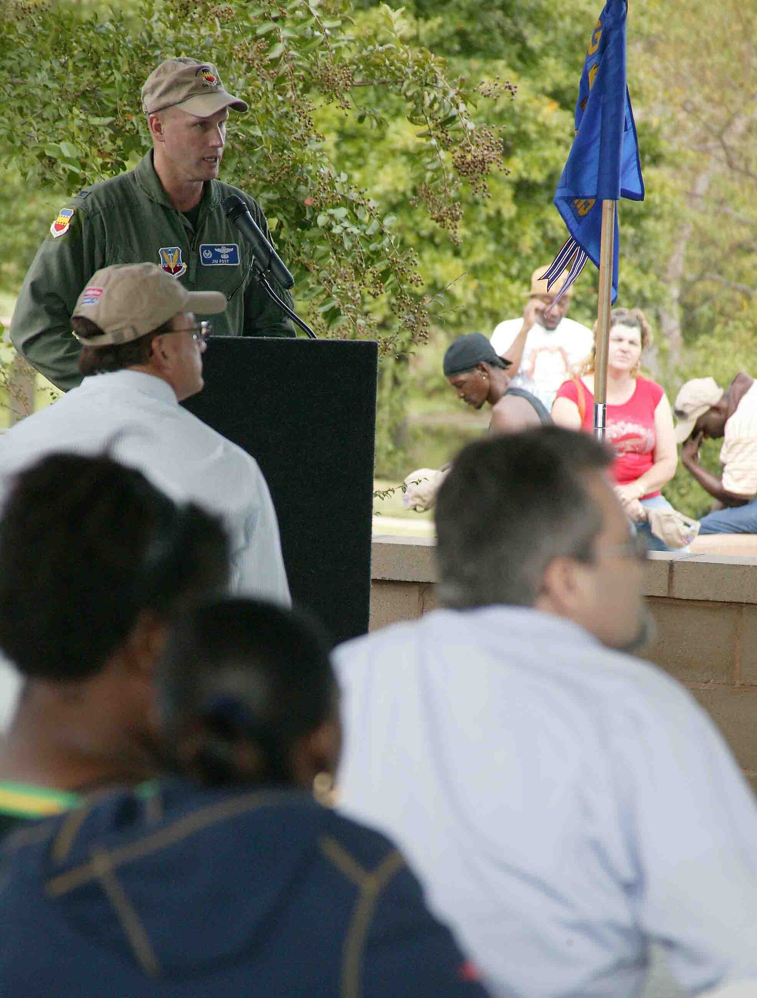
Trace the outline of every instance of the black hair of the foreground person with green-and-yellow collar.
[[55, 454], [19, 474], [0, 520], [0, 648], [28, 678], [100, 672], [152, 611], [223, 590], [229, 543], [105, 456]]

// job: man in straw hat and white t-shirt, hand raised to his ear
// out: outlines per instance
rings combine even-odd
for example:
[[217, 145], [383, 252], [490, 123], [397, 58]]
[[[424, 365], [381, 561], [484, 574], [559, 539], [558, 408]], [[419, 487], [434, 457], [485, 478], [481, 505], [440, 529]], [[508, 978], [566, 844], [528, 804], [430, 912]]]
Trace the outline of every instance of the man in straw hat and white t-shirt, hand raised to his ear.
[[491, 334], [491, 345], [510, 361], [513, 386], [530, 391], [551, 409], [559, 386], [591, 351], [593, 334], [566, 318], [572, 289], [553, 304], [559, 288], [547, 290], [541, 279], [545, 270], [539, 266], [533, 271], [522, 317], [500, 322]]

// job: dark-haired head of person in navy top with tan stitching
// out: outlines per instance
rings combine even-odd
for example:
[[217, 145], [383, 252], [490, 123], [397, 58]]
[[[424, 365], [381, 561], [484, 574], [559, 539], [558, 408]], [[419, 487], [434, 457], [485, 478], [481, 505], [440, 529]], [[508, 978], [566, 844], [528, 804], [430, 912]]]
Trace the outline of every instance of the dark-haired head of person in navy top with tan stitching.
[[336, 766], [327, 646], [291, 611], [248, 599], [190, 610], [169, 634], [157, 683], [169, 759], [202, 782], [307, 786]]

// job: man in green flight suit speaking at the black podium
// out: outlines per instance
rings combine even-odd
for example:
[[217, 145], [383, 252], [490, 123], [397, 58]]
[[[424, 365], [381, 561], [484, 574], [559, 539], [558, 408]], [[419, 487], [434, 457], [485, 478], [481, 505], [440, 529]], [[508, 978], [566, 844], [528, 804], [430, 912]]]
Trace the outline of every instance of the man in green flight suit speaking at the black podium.
[[[217, 179], [229, 109], [247, 111], [247, 104], [224, 89], [211, 63], [188, 58], [162, 62], [142, 88], [142, 104], [152, 150], [134, 170], [85, 188], [61, 210], [13, 314], [16, 348], [66, 390], [81, 380], [73, 307], [92, 274], [112, 263], [155, 262], [189, 290], [222, 291], [229, 305], [221, 321], [214, 316], [219, 335], [295, 335], [254, 279], [252, 251], [221, 204], [238, 195], [269, 235], [257, 202]], [[279, 290], [292, 306], [292, 295]]]

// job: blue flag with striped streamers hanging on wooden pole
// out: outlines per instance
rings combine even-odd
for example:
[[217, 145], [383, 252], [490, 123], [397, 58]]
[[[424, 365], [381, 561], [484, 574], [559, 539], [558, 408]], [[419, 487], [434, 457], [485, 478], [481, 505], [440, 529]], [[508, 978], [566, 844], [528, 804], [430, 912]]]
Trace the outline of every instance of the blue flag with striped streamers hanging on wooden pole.
[[[575, 138], [554, 195], [554, 207], [569, 239], [543, 274], [549, 287], [566, 266], [561, 292], [573, 283], [587, 259], [599, 266], [603, 201], [644, 200], [636, 126], [625, 83], [627, 0], [607, 0], [586, 51], [578, 100]], [[617, 206], [612, 259], [612, 301], [618, 290]]]

